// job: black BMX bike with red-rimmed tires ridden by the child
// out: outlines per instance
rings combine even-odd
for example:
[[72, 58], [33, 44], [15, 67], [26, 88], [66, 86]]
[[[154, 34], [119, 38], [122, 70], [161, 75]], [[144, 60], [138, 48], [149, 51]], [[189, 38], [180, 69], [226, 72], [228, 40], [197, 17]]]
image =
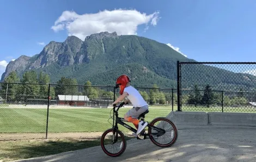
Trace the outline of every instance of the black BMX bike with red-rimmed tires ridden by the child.
[[[126, 139], [124, 134], [118, 129], [118, 124], [121, 124], [122, 126], [126, 127], [127, 129], [131, 130], [134, 133], [137, 133], [137, 130], [132, 128], [131, 126], [127, 125], [126, 121], [122, 117], [118, 117], [118, 110], [119, 108], [123, 107], [124, 103], [121, 103], [120, 105], [113, 105], [113, 127], [107, 129], [105, 132], [103, 132], [101, 136], [101, 148], [104, 153], [109, 155], [110, 157], [118, 157], [121, 154], [124, 153], [126, 149]], [[118, 108], [115, 110], [115, 108]], [[112, 111], [112, 110], [111, 110]], [[149, 113], [149, 110], [145, 111], [139, 117], [138, 120], [141, 119], [141, 121], [144, 121], [145, 114]], [[109, 118], [110, 119], [110, 118]], [[115, 120], [116, 119], [116, 120]], [[159, 124], [156, 124], [157, 122], [160, 122]], [[159, 138], [166, 136], [166, 133], [168, 131], [164, 130], [163, 128], [160, 128], [160, 125], [163, 125], [163, 127], [166, 127], [166, 124], [163, 124], [163, 122], [166, 122], [167, 124], [170, 124], [169, 127], [172, 129], [170, 130], [170, 135], [167, 136], [167, 141], [165, 144], [161, 144], [159, 141], [157, 141]], [[156, 124], [156, 126], [154, 126]], [[167, 128], [169, 128], [167, 127]], [[145, 128], [148, 128], [148, 133], [145, 132]], [[175, 123], [172, 120], [169, 120], [167, 117], [156, 117], [153, 119], [150, 123], [148, 122], [147, 127], [145, 127], [141, 133], [137, 135], [137, 139], [147, 139], [147, 136], [155, 144], [159, 147], [170, 147], [172, 146], [176, 140], [178, 139], [178, 128], [176, 127]], [[155, 132], [154, 132], [155, 131]], [[107, 134], [111, 133], [110, 137], [107, 138]], [[119, 139], [118, 139], [119, 138]], [[155, 139], [156, 138], [156, 139]], [[106, 141], [105, 141], [106, 140]], [[114, 146], [117, 144], [117, 146]], [[112, 148], [111, 148], [112, 147]], [[109, 149], [108, 149], [109, 148]], [[119, 151], [118, 151], [119, 149]], [[117, 152], [113, 152], [117, 150]]]

